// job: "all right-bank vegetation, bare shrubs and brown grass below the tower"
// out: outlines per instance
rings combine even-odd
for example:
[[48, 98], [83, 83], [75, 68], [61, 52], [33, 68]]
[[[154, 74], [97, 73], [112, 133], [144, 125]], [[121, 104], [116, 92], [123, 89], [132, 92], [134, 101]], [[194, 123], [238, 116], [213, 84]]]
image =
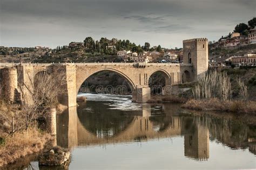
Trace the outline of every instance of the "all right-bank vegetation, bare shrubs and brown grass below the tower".
[[[152, 95], [147, 103], [173, 102], [194, 110], [256, 113], [256, 69], [209, 70], [197, 82], [178, 84], [178, 95]], [[190, 89], [190, 90], [187, 90]]]

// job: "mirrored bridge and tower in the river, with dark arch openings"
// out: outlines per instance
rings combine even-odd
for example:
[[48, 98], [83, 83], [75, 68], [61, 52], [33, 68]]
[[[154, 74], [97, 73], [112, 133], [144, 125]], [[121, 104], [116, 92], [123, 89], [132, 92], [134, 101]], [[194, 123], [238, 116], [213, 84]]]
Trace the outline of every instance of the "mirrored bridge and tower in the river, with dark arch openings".
[[[87, 102], [88, 103], [88, 102]], [[62, 147], [104, 145], [128, 141], [184, 136], [184, 155], [209, 158], [209, 130], [198, 117], [177, 114], [179, 105], [154, 108], [143, 104], [140, 111], [111, 110], [93, 101], [70, 107], [57, 116], [57, 144]], [[95, 104], [95, 107], [93, 107]]]

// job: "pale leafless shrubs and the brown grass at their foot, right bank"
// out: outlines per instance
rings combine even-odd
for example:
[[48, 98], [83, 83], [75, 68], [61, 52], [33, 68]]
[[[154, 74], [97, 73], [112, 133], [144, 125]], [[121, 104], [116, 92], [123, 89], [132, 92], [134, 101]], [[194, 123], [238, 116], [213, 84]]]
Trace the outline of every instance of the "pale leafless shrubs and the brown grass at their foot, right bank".
[[200, 75], [192, 94], [183, 108], [256, 113], [256, 102], [248, 100], [248, 82], [225, 70]]

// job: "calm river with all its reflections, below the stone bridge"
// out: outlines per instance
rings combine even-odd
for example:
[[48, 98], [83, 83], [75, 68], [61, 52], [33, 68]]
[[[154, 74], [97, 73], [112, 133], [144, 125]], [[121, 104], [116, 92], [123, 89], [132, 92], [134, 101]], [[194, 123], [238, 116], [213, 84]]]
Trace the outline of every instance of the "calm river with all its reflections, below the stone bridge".
[[[69, 169], [256, 168], [254, 116], [82, 95], [86, 102], [57, 115], [57, 145], [70, 148]], [[30, 167], [45, 169], [37, 161]]]

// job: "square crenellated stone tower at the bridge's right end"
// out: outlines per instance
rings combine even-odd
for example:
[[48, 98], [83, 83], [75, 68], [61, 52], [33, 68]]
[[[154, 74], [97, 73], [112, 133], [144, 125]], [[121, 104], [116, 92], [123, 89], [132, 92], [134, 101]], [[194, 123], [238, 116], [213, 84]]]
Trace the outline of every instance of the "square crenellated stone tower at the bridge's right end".
[[208, 70], [208, 40], [196, 38], [183, 41], [183, 62], [193, 65], [194, 80]]

